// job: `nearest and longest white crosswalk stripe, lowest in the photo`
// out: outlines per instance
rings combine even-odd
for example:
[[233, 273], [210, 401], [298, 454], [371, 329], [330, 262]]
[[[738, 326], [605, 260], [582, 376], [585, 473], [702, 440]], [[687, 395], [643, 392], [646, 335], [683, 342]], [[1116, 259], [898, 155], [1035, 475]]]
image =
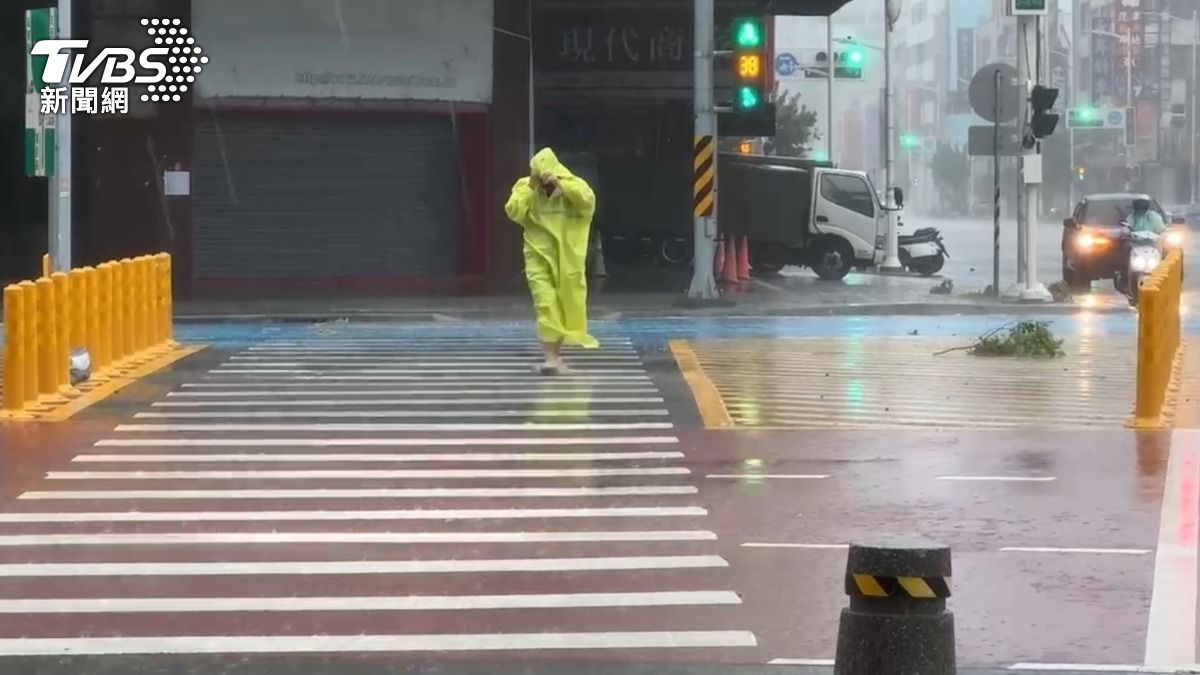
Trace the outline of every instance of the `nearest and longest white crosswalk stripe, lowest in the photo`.
[[179, 635], [162, 638], [14, 638], [0, 656], [126, 653], [364, 653], [515, 650], [754, 647], [748, 631], [643, 633], [482, 633], [431, 635]]

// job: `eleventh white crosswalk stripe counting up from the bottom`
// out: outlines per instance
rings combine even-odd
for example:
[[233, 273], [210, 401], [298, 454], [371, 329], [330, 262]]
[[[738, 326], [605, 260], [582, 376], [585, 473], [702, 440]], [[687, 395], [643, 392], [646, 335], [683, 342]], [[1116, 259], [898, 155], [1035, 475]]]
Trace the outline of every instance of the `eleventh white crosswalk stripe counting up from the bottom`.
[[[554, 401], [547, 400], [546, 405]], [[313, 411], [210, 411], [210, 412], [139, 412], [134, 419], [462, 419], [469, 418], [546, 418], [546, 417], [667, 417], [666, 408], [532, 408], [532, 410], [313, 410]]]

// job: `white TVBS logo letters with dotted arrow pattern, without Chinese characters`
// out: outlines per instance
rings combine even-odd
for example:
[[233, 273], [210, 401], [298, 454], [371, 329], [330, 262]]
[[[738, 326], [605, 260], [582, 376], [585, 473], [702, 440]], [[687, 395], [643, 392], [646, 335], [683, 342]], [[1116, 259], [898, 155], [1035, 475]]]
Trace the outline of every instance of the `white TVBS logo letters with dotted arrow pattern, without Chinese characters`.
[[179, 101], [209, 58], [180, 19], [142, 19], [155, 42], [154, 47], [134, 52], [127, 47], [106, 47], [90, 61], [84, 52], [86, 40], [42, 40], [34, 44], [34, 56], [46, 56], [42, 82], [47, 86], [85, 84], [97, 73], [102, 85], [148, 85], [151, 95], [143, 101]]

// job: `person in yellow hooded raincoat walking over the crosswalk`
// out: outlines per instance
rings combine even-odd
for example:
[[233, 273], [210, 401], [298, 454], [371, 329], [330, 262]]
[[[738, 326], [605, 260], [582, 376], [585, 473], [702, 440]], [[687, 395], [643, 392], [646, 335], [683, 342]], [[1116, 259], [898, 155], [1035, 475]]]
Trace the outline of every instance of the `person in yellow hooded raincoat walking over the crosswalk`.
[[529, 160], [504, 210], [524, 231], [524, 271], [546, 360], [542, 375], [566, 372], [563, 345], [599, 347], [588, 335], [588, 232], [596, 210], [592, 187], [550, 148]]

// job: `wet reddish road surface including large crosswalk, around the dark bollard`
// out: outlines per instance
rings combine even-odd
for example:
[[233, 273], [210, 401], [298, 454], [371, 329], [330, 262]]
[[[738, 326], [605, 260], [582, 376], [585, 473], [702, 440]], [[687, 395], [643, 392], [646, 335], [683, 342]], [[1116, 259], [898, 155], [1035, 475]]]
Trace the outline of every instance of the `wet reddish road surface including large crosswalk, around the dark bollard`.
[[[1168, 436], [708, 431], [661, 347], [608, 336], [544, 381], [516, 333], [403, 334], [211, 351], [0, 428], [0, 655], [821, 664], [845, 544], [926, 536], [954, 549], [960, 664], [1146, 657]], [[1168, 617], [1194, 657], [1190, 542]]]

